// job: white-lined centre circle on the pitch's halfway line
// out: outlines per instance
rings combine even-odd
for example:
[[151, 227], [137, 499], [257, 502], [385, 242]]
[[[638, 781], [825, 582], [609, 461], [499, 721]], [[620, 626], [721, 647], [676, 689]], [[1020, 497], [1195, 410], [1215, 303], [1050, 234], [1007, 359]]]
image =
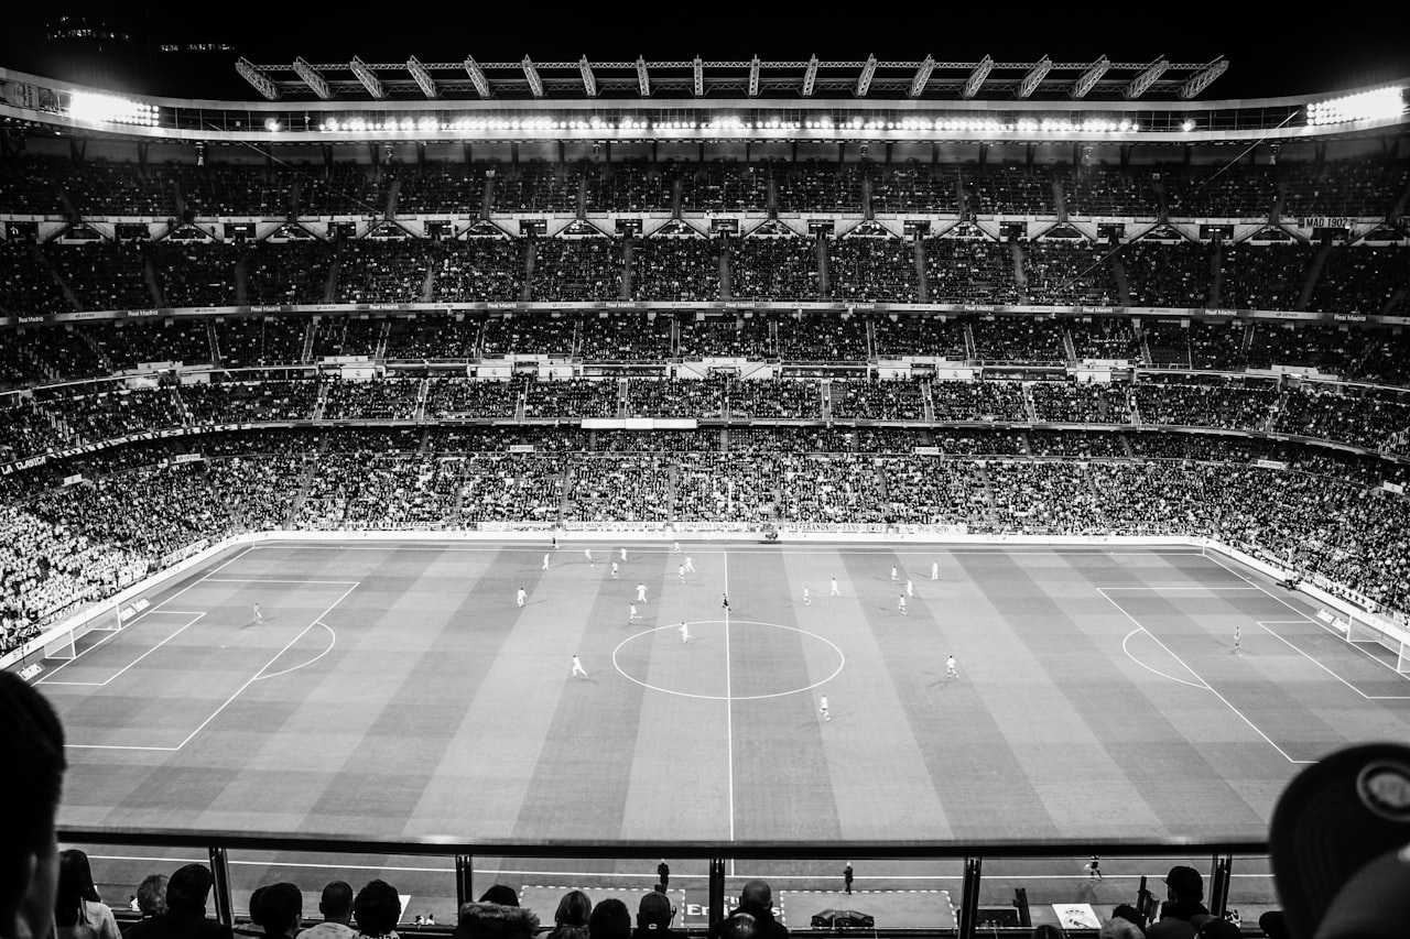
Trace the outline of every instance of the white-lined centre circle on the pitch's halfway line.
[[[627, 636], [616, 649], [612, 650], [612, 664], [616, 667], [618, 673], [643, 688], [651, 691], [660, 691], [668, 695], [678, 695], [681, 698], [702, 698], [705, 701], [759, 701], [761, 698], [783, 698], [785, 695], [797, 695], [805, 691], [812, 691], [819, 685], [825, 685], [833, 678], [836, 678], [842, 668], [846, 665], [846, 657], [842, 650], [838, 649], [836, 643], [830, 639], [823, 639], [818, 633], [808, 632], [807, 629], [799, 629], [797, 626], [781, 626], [780, 623], [763, 623], [752, 619], [697, 619], [685, 620], [687, 634], [681, 634], [682, 623], [680, 620], [674, 623], [667, 623], [666, 626], [654, 626], [651, 629], [643, 629], [639, 633]], [[743, 630], [742, 630], [743, 629]], [[728, 682], [729, 688], [733, 691], [735, 673], [747, 667], [747, 663], [753, 661], [749, 654], [750, 646], [768, 646], [768, 642], [760, 643], [766, 634], [759, 630], [783, 630], [785, 633], [794, 633], [794, 640], [801, 646], [801, 651], [805, 657], [812, 658], [815, 663], [822, 661], [822, 668], [828, 670], [828, 675], [808, 685], [798, 685], [792, 688], [784, 688], [781, 691], [767, 691], [756, 694], [701, 694], [694, 691], [681, 691], [680, 688], [673, 688], [668, 684], [661, 682], [661, 678], [649, 681], [647, 667], [654, 665], [654, 668], [666, 675], [681, 675], [681, 677], [698, 677], [702, 673], [709, 673], [712, 665], [723, 673], [723, 681]], [[675, 636], [681, 636], [677, 639]], [[733, 651], [729, 647], [729, 640], [733, 639], [736, 646], [743, 647], [743, 653]], [[767, 634], [768, 640], [783, 639], [777, 633]], [[694, 646], [694, 647], [692, 647]], [[702, 651], [704, 650], [704, 651]], [[761, 650], [767, 654], [767, 650]], [[735, 656], [739, 656], [735, 658]], [[743, 675], [744, 685], [759, 685], [760, 675], [757, 673], [746, 673]]]

